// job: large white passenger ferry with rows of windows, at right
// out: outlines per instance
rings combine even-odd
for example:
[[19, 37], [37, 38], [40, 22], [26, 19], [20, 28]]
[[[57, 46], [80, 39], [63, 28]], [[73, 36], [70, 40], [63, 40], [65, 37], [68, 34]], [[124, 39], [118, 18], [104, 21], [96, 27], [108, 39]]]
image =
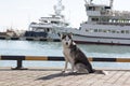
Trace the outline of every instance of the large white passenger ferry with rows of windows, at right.
[[[86, 1], [86, 0], [84, 0]], [[88, 22], [81, 24], [74, 37], [79, 43], [130, 45], [130, 12], [114, 11], [109, 5], [86, 1]]]

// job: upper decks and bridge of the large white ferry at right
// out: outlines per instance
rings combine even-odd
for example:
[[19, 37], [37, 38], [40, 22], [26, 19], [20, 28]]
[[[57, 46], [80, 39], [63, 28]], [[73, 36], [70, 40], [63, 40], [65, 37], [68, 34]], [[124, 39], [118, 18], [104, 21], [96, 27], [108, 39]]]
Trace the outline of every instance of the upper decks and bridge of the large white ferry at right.
[[88, 15], [89, 24], [105, 23], [105, 24], [130, 24], [130, 12], [128, 11], [114, 11], [113, 0], [109, 5], [95, 4], [86, 2], [86, 12]]

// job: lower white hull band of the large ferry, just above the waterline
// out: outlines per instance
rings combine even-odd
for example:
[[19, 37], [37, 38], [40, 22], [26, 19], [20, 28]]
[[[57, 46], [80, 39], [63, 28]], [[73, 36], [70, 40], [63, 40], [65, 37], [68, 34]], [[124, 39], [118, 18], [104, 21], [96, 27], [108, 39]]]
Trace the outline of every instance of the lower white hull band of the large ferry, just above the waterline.
[[130, 45], [130, 39], [74, 35], [78, 44], [102, 44], [102, 45]]

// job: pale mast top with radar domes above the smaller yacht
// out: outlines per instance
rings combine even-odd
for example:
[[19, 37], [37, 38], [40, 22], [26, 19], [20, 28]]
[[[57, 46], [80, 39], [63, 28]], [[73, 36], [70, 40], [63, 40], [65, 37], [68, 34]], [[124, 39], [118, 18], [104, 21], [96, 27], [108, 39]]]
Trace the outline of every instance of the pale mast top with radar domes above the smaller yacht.
[[55, 14], [61, 15], [63, 10], [64, 10], [64, 5], [62, 4], [62, 0], [57, 0], [57, 4], [54, 5]]

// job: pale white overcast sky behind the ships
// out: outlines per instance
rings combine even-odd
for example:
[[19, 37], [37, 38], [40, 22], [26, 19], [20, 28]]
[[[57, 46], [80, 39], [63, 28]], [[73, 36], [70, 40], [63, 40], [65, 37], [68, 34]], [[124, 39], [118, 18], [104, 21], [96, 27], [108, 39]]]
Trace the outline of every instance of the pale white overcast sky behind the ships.
[[[108, 4], [109, 0], [93, 0], [94, 3]], [[84, 0], [62, 0], [65, 15], [72, 27], [78, 28], [87, 20]], [[0, 31], [6, 29], [27, 30], [31, 22], [54, 14], [57, 0], [0, 0]], [[129, 0], [114, 0], [114, 10], [130, 11]]]

